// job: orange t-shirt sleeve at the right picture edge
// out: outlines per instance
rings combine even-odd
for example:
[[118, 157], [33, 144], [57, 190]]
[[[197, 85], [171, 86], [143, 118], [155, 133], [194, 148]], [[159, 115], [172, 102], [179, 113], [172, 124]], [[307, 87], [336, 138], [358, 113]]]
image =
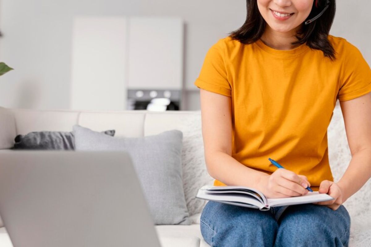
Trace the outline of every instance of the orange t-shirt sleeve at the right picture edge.
[[371, 69], [357, 47], [347, 42], [344, 57], [339, 101], [355, 99], [371, 91]]

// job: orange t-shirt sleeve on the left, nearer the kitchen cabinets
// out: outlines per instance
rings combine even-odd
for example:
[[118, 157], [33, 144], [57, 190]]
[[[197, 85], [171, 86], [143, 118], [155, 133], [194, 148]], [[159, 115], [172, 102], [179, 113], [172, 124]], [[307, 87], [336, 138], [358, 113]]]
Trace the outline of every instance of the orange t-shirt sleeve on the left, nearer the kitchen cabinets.
[[200, 75], [194, 85], [200, 89], [231, 97], [232, 90], [227, 80], [225, 53], [221, 41], [207, 51]]

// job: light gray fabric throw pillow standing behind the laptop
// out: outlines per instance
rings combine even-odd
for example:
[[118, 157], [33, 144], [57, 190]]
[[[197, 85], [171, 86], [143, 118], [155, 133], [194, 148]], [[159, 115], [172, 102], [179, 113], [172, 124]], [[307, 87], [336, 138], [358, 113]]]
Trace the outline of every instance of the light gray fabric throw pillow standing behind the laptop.
[[179, 130], [145, 137], [111, 137], [73, 126], [76, 151], [127, 151], [156, 225], [190, 225], [182, 180]]

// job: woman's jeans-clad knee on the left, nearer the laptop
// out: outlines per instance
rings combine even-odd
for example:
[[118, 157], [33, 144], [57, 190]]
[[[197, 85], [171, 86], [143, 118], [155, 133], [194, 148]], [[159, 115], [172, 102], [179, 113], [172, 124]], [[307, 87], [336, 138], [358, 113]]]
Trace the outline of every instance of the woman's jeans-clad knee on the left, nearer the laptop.
[[273, 246], [278, 224], [269, 211], [209, 201], [201, 234], [210, 246]]

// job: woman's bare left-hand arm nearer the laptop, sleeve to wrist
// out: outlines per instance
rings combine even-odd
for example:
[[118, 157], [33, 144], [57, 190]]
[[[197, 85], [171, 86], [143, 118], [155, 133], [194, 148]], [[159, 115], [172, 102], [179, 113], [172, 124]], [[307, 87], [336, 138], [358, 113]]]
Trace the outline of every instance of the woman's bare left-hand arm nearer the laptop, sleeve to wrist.
[[256, 187], [261, 171], [232, 157], [231, 97], [200, 89], [202, 136], [210, 176], [230, 186]]

